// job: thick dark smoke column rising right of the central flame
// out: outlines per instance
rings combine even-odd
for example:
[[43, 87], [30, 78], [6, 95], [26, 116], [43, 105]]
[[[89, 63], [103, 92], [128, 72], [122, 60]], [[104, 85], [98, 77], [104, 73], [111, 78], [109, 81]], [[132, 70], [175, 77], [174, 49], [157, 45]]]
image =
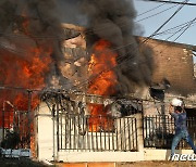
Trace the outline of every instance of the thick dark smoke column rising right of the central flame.
[[150, 85], [154, 69], [152, 51], [133, 36], [135, 28], [132, 0], [84, 0], [82, 9], [87, 16], [87, 42], [90, 48], [97, 39], [112, 43], [118, 56], [120, 92], [132, 92], [135, 86]]

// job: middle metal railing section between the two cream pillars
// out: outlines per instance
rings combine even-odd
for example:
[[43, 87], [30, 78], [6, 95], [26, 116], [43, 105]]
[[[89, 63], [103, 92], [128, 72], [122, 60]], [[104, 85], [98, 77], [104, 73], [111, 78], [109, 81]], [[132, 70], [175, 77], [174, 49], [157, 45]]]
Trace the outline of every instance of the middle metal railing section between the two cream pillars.
[[136, 151], [134, 117], [103, 117], [59, 114], [58, 150]]

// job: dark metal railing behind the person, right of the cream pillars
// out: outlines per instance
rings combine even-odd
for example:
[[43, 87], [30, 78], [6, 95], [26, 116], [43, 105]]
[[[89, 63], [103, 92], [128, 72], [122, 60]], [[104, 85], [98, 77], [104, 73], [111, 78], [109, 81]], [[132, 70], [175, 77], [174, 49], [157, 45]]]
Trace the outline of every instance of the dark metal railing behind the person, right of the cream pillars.
[[[196, 119], [187, 118], [188, 132], [196, 144]], [[170, 115], [144, 116], [143, 118], [144, 146], [156, 149], [170, 149], [174, 136], [174, 118]], [[189, 145], [182, 140], [179, 149], [189, 149]]]

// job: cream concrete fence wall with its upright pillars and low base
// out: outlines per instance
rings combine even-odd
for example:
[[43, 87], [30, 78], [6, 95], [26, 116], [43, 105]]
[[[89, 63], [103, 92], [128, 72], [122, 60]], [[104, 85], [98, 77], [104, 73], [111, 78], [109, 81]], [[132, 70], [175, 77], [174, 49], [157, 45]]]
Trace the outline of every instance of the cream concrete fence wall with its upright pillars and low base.
[[[137, 130], [142, 128], [142, 117], [135, 115], [137, 119]], [[37, 114], [37, 144], [38, 159], [63, 160], [63, 162], [138, 162], [138, 160], [167, 160], [170, 150], [144, 149], [142, 131], [137, 131], [138, 152], [85, 152], [85, 151], [60, 151], [57, 145], [53, 150], [53, 140], [57, 144], [57, 132], [53, 138], [53, 120], [51, 112], [45, 103], [40, 104]], [[56, 130], [56, 129], [54, 129]], [[176, 151], [180, 154], [193, 154], [192, 150]], [[54, 157], [53, 157], [54, 156]]]

